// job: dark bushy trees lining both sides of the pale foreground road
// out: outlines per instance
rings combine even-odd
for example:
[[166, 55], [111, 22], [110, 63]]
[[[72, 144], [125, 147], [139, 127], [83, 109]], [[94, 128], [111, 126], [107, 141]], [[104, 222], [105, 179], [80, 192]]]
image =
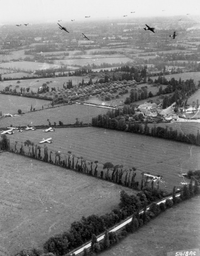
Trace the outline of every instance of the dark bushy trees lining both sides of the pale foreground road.
[[[91, 239], [89, 249], [84, 249], [83, 256], [95, 256], [99, 252], [108, 250], [114, 244], [125, 238], [128, 234], [136, 232], [143, 225], [147, 224], [151, 219], [155, 218], [173, 205], [190, 199], [199, 194], [199, 184], [197, 180], [191, 180], [189, 185], [184, 185], [180, 190], [180, 196], [176, 196], [176, 188], [173, 188], [173, 198], [166, 199], [165, 202], [159, 204], [152, 202], [147, 210], [148, 201], [143, 192], [139, 192], [136, 196], [128, 195], [124, 190], [120, 193], [120, 209], [114, 209], [109, 214], [102, 216], [91, 215], [80, 221], [71, 224], [68, 232], [58, 234], [49, 238], [43, 248], [45, 254], [39, 250], [22, 250], [15, 256], [62, 256], [74, 255], [69, 251], [84, 242]], [[143, 209], [143, 210], [142, 210]], [[131, 222], [125, 225], [120, 231], [108, 232], [108, 229], [116, 225], [132, 215]], [[102, 241], [97, 241], [97, 236], [104, 234]], [[43, 253], [43, 254], [42, 254]]]

